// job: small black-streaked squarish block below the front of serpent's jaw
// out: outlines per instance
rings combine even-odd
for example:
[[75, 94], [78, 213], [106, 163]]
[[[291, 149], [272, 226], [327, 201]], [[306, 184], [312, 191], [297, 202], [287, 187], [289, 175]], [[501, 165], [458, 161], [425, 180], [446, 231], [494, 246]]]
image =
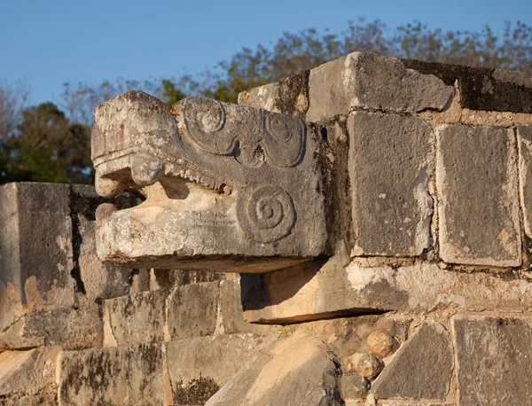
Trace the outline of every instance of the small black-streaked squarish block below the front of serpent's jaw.
[[104, 301], [104, 345], [162, 342], [166, 299], [164, 291], [155, 291]]

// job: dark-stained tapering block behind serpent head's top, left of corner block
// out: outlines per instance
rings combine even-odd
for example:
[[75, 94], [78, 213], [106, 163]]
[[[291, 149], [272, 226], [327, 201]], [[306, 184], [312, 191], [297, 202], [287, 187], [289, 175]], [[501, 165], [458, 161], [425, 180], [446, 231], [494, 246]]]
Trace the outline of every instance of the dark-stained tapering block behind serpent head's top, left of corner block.
[[309, 71], [239, 94], [239, 105], [304, 118], [309, 109]]

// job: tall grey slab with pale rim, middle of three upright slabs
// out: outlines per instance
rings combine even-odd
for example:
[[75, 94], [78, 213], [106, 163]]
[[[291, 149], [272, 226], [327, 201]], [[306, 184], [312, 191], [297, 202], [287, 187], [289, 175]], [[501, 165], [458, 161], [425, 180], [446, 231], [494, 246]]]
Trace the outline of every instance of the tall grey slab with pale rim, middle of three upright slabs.
[[440, 256], [444, 262], [521, 263], [515, 134], [497, 127], [436, 131]]

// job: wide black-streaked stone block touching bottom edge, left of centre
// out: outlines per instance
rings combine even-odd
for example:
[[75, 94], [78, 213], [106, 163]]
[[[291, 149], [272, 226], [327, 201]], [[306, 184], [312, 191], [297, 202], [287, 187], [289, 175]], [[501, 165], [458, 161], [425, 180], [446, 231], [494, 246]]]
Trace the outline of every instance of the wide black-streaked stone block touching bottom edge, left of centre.
[[164, 404], [161, 345], [63, 352], [59, 404]]

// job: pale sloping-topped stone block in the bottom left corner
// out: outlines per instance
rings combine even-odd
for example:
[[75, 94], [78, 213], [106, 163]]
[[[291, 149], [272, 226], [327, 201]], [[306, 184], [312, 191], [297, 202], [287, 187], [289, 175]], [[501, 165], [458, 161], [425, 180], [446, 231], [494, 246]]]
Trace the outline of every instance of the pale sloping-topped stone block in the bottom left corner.
[[54, 347], [0, 353], [0, 404], [9, 404], [10, 398], [13, 404], [13, 398], [20, 402], [17, 404], [26, 404], [20, 398], [53, 393], [59, 352]]

